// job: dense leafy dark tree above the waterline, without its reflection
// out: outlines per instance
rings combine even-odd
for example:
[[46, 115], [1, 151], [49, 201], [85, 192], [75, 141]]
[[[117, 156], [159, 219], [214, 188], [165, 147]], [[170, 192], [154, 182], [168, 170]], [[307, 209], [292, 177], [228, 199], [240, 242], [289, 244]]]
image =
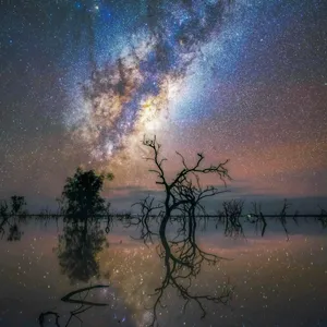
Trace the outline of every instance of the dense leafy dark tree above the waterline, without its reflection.
[[106, 214], [109, 204], [100, 196], [105, 179], [112, 180], [113, 174], [97, 174], [94, 170], [84, 171], [78, 167], [75, 174], [66, 179], [63, 187], [63, 213], [75, 220]]

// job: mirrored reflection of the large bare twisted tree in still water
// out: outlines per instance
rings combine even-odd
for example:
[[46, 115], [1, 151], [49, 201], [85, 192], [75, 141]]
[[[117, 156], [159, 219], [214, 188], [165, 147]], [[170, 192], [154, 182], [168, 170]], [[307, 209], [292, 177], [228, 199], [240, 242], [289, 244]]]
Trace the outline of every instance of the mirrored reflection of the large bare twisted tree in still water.
[[[138, 205], [141, 206], [143, 215], [129, 221], [128, 226], [141, 227], [140, 238], [145, 244], [148, 244], [148, 242], [153, 243], [154, 237], [159, 237], [157, 253], [165, 264], [162, 277], [160, 278], [162, 282], [155, 289], [155, 292], [150, 294], [154, 298], [154, 302], [149, 307], [152, 318], [147, 326], [159, 325], [158, 313], [160, 308], [166, 307], [164, 303], [165, 294], [172, 289], [177, 291], [177, 294], [184, 302], [182, 311], [185, 312], [187, 305], [194, 302], [201, 310], [202, 318], [204, 318], [207, 313], [205, 307], [206, 301], [227, 305], [233, 292], [233, 287], [229, 281], [222, 282], [222, 287], [214, 286], [215, 290], [211, 293], [197, 293], [197, 290], [192, 288], [196, 277], [201, 274], [203, 265], [217, 265], [220, 261], [227, 259], [205, 252], [196, 242], [198, 218], [194, 215], [192, 205], [186, 204], [183, 215], [174, 220], [179, 228], [173, 238], [169, 238], [166, 226], [162, 228], [165, 223], [165, 219], [160, 217], [162, 213], [156, 217], [161, 221], [159, 225], [149, 221], [149, 213], [153, 213], [154, 208], [158, 208], [158, 206], [154, 205], [153, 198], [146, 197], [143, 202], [140, 202]], [[157, 228], [159, 226], [159, 232], [154, 230], [155, 226], [157, 226]]]

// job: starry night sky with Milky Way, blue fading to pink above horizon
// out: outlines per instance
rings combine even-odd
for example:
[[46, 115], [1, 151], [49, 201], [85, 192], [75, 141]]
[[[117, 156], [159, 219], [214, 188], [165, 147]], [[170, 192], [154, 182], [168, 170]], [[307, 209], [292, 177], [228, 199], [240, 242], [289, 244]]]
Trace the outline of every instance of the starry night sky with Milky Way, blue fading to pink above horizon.
[[144, 134], [168, 173], [204, 152], [235, 196], [327, 196], [327, 1], [0, 3], [0, 198], [51, 205], [81, 165], [126, 209], [158, 190]]

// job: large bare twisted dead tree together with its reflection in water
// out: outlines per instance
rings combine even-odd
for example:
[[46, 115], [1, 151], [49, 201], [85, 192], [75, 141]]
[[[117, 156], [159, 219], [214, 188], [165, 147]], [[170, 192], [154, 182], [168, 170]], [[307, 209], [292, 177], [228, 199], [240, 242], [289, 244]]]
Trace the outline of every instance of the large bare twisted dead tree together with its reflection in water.
[[[157, 143], [156, 137], [153, 140], [144, 138], [143, 145], [147, 146], [153, 155], [146, 158], [146, 160], [154, 162], [155, 166], [149, 171], [156, 173], [156, 183], [162, 185], [165, 190], [165, 199], [160, 205], [154, 206], [153, 198], [146, 198], [140, 203], [142, 217], [145, 217], [140, 220], [142, 225], [141, 237], [146, 240], [154, 234], [148, 228], [149, 214], [154, 209], [160, 209], [158, 233], [160, 243], [157, 246], [157, 252], [165, 263], [165, 277], [161, 286], [153, 294], [156, 300], [149, 326], [158, 324], [157, 313], [159, 306], [164, 306], [162, 298], [168, 287], [175, 289], [178, 294], [185, 301], [183, 310], [186, 308], [190, 302], [194, 302], [199, 307], [202, 317], [205, 317], [204, 301], [227, 304], [232, 293], [232, 288], [227, 284], [222, 289], [222, 292], [219, 294], [218, 292], [214, 292], [211, 295], [192, 293], [191, 289], [192, 282], [201, 272], [204, 263], [215, 265], [222, 259], [215, 254], [203, 251], [198, 246], [196, 242], [196, 216], [198, 213], [205, 213], [205, 208], [201, 203], [204, 198], [227, 192], [226, 181], [230, 180], [226, 168], [228, 160], [217, 166], [203, 167], [205, 158], [203, 154], [197, 154], [195, 164], [189, 165], [184, 157], [180, 153], [177, 153], [181, 158], [182, 168], [171, 181], [168, 181], [164, 168], [164, 162], [167, 159], [160, 156], [161, 146]], [[223, 182], [225, 189], [220, 190], [214, 185], [203, 187], [199, 178], [204, 174], [216, 174]], [[167, 225], [172, 219], [172, 213], [180, 214], [180, 228], [178, 229], [177, 237], [169, 240], [167, 238]]]

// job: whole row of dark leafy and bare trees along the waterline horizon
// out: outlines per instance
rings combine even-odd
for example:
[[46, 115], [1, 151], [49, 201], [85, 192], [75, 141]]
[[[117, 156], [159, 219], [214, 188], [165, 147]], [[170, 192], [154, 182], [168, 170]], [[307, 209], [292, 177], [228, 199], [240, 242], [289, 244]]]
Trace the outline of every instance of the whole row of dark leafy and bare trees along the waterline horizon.
[[[211, 217], [216, 219], [216, 227], [222, 225], [223, 232], [227, 237], [244, 235], [244, 222], [253, 225], [256, 232], [264, 237], [268, 218], [277, 218], [281, 223], [284, 232], [289, 235], [288, 220], [289, 218], [298, 223], [299, 213], [289, 215], [290, 204], [284, 201], [283, 206], [277, 215], [264, 215], [262, 206], [252, 203], [252, 209], [244, 213], [244, 201], [230, 199], [222, 202], [222, 208], [214, 217], [206, 213], [203, 199], [213, 197], [221, 193], [228, 192], [226, 182], [231, 180], [227, 165], [228, 160], [218, 165], [204, 166], [205, 156], [202, 153], [196, 155], [193, 165], [186, 164], [184, 157], [177, 153], [181, 159], [181, 169], [171, 180], [165, 171], [166, 158], [161, 157], [161, 145], [154, 138], [144, 138], [143, 145], [148, 149], [149, 157], [146, 160], [153, 162], [150, 173], [157, 177], [156, 184], [162, 187], [165, 199], [155, 202], [155, 198], [147, 197], [138, 202], [141, 214], [138, 219], [143, 223], [143, 232], [150, 237], [146, 231], [146, 227], [150, 220], [159, 218], [161, 229], [164, 230], [167, 222], [172, 217], [193, 215], [203, 217], [204, 219]], [[201, 177], [211, 174], [222, 182], [222, 187], [203, 186]], [[112, 181], [114, 178], [112, 172], [97, 173], [94, 169], [83, 170], [81, 167], [76, 169], [72, 177], [66, 178], [61, 196], [57, 198], [59, 204], [58, 214], [63, 216], [65, 221], [84, 221], [95, 219], [96, 217], [107, 217], [106, 232], [109, 232], [112, 223], [113, 215], [110, 215], [110, 202], [101, 196], [105, 181]], [[0, 233], [5, 233], [5, 227], [9, 228], [9, 240], [20, 239], [19, 221], [25, 220], [28, 216], [26, 210], [26, 201], [24, 196], [11, 196], [8, 201], [0, 202]], [[35, 216], [35, 215], [31, 215]], [[40, 217], [53, 217], [55, 214], [49, 210], [43, 210], [38, 215]], [[119, 215], [117, 215], [119, 216]], [[323, 228], [327, 227], [327, 211], [320, 208], [319, 215], [311, 215], [317, 220]], [[129, 215], [124, 216], [129, 218]], [[135, 222], [135, 221], [134, 221]], [[134, 223], [133, 222], [133, 223]], [[162, 232], [162, 231], [161, 231]]]

